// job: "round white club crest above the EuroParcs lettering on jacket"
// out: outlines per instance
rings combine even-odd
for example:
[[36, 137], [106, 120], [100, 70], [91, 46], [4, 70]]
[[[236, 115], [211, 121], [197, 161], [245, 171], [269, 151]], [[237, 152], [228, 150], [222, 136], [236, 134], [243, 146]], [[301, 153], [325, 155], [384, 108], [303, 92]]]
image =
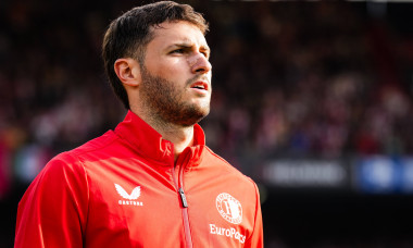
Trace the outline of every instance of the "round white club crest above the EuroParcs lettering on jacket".
[[237, 199], [227, 193], [222, 193], [216, 197], [216, 209], [220, 214], [233, 224], [242, 222], [242, 207]]

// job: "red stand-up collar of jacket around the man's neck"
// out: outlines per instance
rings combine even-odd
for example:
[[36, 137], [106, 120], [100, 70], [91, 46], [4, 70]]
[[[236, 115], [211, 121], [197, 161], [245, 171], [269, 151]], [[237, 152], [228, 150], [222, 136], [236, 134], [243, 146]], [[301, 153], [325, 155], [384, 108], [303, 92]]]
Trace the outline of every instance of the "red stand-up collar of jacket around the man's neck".
[[[174, 164], [174, 144], [163, 139], [162, 135], [153, 129], [130, 110], [123, 122], [116, 128], [115, 134], [126, 140], [138, 153], [164, 165]], [[196, 166], [200, 163], [201, 154], [205, 146], [205, 136], [200, 125], [193, 126], [193, 145], [187, 147], [179, 158], [188, 158], [188, 164]], [[190, 157], [187, 157], [189, 154]], [[178, 158], [178, 160], [179, 160]]]

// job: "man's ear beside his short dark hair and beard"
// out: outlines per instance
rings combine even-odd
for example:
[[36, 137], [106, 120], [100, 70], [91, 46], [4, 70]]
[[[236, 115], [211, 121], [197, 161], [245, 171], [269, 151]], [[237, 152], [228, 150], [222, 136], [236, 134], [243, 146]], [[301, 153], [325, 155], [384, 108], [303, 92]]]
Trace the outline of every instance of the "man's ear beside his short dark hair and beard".
[[139, 63], [132, 58], [117, 59], [114, 70], [120, 80], [128, 86], [138, 86], [141, 82]]

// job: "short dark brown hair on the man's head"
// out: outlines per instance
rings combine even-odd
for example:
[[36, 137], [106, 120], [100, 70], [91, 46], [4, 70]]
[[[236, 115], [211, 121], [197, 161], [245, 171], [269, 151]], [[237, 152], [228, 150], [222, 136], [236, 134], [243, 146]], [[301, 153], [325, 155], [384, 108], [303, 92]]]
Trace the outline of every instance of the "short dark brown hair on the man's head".
[[173, 1], [134, 8], [109, 25], [102, 45], [104, 70], [113, 91], [126, 109], [129, 109], [129, 100], [125, 87], [114, 71], [115, 61], [120, 58], [134, 58], [142, 66], [147, 45], [153, 39], [151, 27], [164, 22], [179, 21], [196, 25], [203, 35], [208, 30], [206, 21], [192, 7]]

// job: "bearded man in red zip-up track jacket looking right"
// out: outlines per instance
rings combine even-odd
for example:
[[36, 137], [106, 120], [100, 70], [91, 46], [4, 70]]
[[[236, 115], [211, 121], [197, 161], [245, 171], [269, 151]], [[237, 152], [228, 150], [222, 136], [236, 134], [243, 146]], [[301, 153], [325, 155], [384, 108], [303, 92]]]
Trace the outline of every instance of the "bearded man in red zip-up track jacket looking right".
[[52, 159], [22, 198], [15, 247], [262, 247], [256, 185], [212, 152], [208, 25], [191, 7], [135, 8], [103, 60], [128, 113]]

